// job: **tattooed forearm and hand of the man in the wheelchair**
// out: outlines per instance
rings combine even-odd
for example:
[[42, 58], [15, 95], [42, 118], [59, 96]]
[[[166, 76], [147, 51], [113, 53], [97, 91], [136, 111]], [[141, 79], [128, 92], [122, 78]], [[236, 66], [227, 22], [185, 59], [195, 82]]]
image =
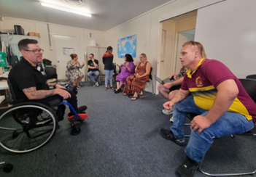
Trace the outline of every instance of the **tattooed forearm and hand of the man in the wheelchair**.
[[36, 87], [30, 87], [28, 89], [23, 89], [24, 94], [28, 99], [45, 99], [49, 96], [58, 94], [63, 97], [63, 99], [69, 98], [71, 95], [68, 91], [63, 89], [53, 89], [53, 90], [36, 90]]

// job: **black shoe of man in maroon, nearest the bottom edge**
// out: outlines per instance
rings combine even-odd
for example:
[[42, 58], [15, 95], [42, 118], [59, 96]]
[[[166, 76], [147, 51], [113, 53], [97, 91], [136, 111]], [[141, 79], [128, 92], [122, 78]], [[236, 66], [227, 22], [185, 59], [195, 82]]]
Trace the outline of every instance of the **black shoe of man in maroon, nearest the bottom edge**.
[[198, 162], [187, 157], [187, 160], [180, 165], [176, 172], [177, 175], [181, 177], [193, 177], [195, 175], [195, 171], [198, 169]]

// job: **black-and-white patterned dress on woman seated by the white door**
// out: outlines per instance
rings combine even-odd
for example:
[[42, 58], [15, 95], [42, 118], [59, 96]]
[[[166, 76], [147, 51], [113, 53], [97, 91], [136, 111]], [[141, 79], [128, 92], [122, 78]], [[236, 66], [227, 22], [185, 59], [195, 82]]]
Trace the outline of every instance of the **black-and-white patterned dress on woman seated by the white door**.
[[79, 71], [80, 68], [84, 67], [85, 65], [80, 65], [78, 62], [77, 65], [74, 65], [72, 60], [67, 62], [66, 64], [66, 77], [69, 78], [69, 84], [73, 84], [74, 80], [76, 80], [79, 77], [84, 76], [84, 74]]

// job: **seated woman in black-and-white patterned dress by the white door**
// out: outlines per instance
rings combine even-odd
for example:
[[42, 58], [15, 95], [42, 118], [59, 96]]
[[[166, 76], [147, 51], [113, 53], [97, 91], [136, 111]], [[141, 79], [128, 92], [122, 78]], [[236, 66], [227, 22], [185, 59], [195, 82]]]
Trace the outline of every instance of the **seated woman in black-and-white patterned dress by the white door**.
[[69, 83], [80, 88], [79, 82], [84, 77], [83, 73], [79, 71], [80, 68], [84, 67], [86, 62], [82, 62], [82, 65], [77, 61], [77, 54], [70, 55], [71, 60], [66, 64], [66, 77], [69, 78]]

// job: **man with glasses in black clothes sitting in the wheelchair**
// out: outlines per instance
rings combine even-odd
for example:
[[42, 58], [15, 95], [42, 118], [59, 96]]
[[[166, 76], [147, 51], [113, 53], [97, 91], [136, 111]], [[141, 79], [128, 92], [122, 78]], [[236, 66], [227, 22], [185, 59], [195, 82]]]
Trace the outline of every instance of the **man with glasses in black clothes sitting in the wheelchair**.
[[[78, 113], [87, 109], [86, 106], [77, 107], [77, 96], [73, 91], [68, 91], [58, 84], [55, 85], [55, 89], [49, 89], [45, 74], [39, 65], [42, 62], [43, 50], [36, 40], [25, 38], [19, 41], [18, 47], [23, 57], [12, 67], [8, 76], [18, 102], [33, 100], [33, 102], [50, 106], [50, 102], [53, 100], [66, 99]], [[65, 108], [63, 104], [58, 107], [56, 114], [59, 120], [63, 120]], [[69, 116], [71, 115], [74, 115], [74, 112], [71, 111]]]

